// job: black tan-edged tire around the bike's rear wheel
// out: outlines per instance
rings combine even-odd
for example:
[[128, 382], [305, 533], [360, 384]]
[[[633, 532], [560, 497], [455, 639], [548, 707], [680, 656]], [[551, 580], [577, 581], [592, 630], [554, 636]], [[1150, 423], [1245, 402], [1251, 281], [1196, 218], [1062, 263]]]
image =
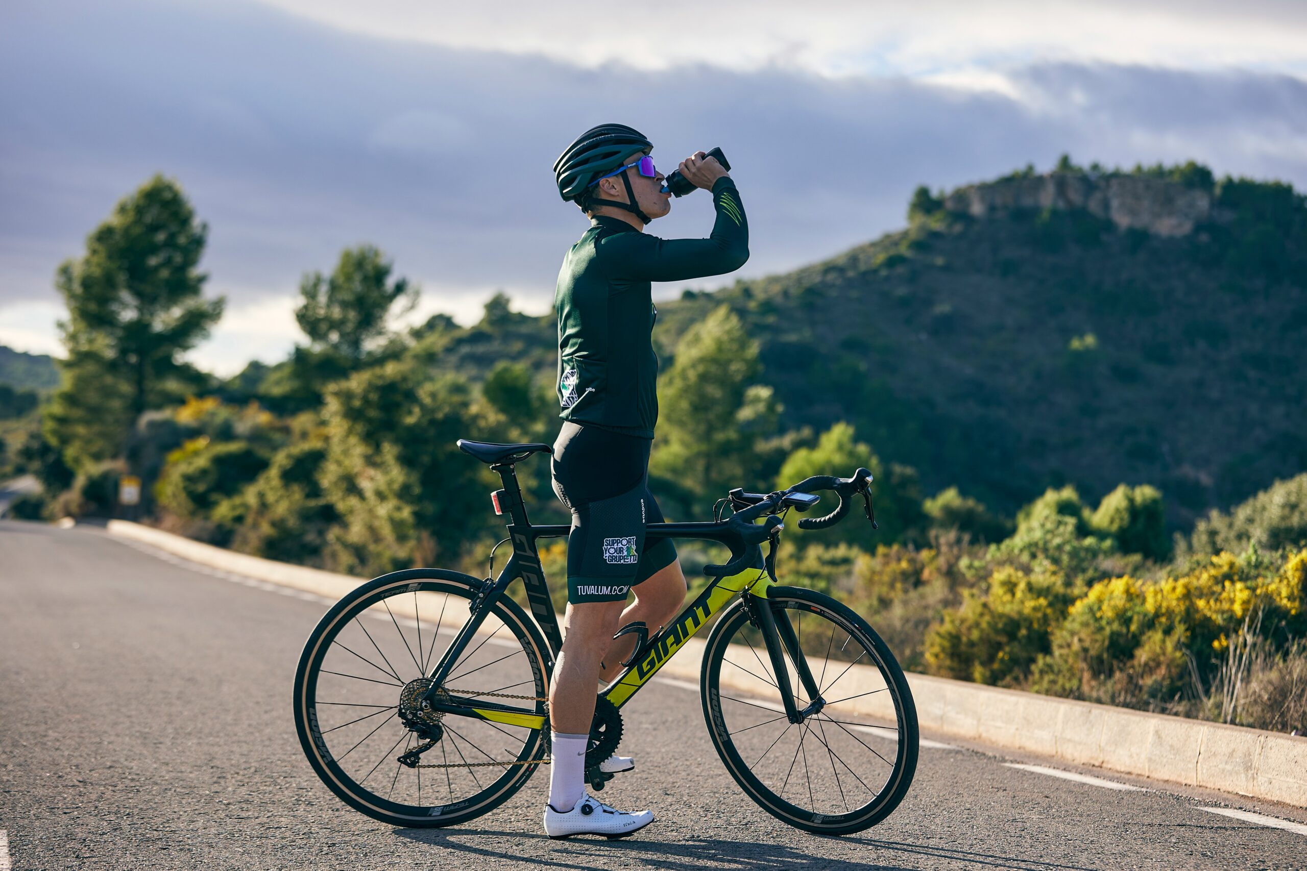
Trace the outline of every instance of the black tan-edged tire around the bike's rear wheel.
[[[299, 665], [295, 669], [295, 731], [299, 735], [299, 744], [314, 772], [337, 798], [354, 810], [382, 823], [406, 828], [456, 825], [489, 814], [506, 802], [525, 785], [540, 767], [540, 761], [544, 760], [548, 752], [548, 735], [544, 735], [541, 730], [527, 730], [528, 738], [523, 743], [518, 760], [533, 760], [533, 764], [508, 767], [491, 786], [474, 797], [476, 800], [469, 798], [450, 804], [414, 806], [389, 802], [356, 784], [341, 769], [322, 738], [315, 699], [318, 669], [322, 666], [323, 658], [331, 648], [331, 641], [341, 627], [348, 626], [352, 619], [369, 607], [392, 595], [413, 590], [414, 593], [444, 593], [456, 598], [467, 598], [471, 602], [480, 590], [481, 584], [481, 581], [469, 575], [446, 569], [414, 568], [392, 572], [362, 584], [358, 589], [341, 598], [319, 620], [312, 632], [310, 632], [303, 653], [299, 657]], [[546, 695], [549, 673], [545, 663], [549, 661], [546, 656], [549, 646], [540, 628], [516, 602], [507, 597], [501, 597], [495, 602], [491, 614], [508, 627], [525, 652], [529, 669], [533, 674], [535, 695]], [[545, 713], [544, 703], [535, 704], [540, 713]]]

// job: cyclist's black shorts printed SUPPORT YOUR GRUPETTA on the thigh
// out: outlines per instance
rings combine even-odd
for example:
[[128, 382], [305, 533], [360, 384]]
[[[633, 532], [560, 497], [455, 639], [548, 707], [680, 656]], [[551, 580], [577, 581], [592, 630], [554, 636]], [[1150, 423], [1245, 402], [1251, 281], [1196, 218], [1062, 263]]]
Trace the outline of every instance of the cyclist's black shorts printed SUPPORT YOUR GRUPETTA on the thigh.
[[572, 513], [567, 537], [567, 601], [620, 602], [676, 560], [660, 538], [644, 546], [644, 524], [663, 522], [648, 490], [652, 440], [563, 423], [554, 441], [554, 492]]

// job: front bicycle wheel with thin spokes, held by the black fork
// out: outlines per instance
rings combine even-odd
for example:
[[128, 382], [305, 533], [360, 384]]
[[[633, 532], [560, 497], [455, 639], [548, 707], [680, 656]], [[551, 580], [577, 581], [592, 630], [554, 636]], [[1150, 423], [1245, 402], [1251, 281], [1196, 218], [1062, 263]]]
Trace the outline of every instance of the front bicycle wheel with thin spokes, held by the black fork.
[[[789, 722], [752, 607], [771, 607], [795, 705]], [[786, 631], [786, 623], [792, 635]], [[793, 648], [799, 649], [795, 650]], [[806, 661], [809, 699], [795, 666]], [[703, 654], [703, 716], [727, 770], [772, 816], [808, 832], [850, 834], [898, 807], [916, 772], [916, 708], [903, 670], [867, 620], [829, 595], [772, 586], [721, 615]]]

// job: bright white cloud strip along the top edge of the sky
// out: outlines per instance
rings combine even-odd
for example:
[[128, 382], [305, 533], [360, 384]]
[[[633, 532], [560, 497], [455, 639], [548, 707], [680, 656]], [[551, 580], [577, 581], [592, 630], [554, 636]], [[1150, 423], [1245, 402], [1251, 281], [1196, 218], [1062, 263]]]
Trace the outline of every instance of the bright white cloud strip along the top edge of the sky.
[[264, 1], [348, 33], [589, 68], [924, 76], [1044, 60], [1299, 71], [1307, 61], [1307, 8], [1291, 0]]

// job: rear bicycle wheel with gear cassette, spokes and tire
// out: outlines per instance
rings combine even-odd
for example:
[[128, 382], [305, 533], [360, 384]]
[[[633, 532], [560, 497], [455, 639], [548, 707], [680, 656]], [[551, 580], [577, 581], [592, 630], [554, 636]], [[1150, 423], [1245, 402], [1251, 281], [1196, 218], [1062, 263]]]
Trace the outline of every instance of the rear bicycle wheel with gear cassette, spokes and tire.
[[[454, 825], [498, 807], [544, 759], [538, 729], [400, 717], [401, 701], [412, 712], [430, 686], [480, 585], [442, 569], [393, 572], [337, 602], [310, 633], [295, 671], [295, 727], [314, 770], [350, 807], [392, 825]], [[548, 650], [521, 607], [501, 598], [444, 686], [544, 714]], [[418, 750], [416, 767], [400, 761]]]

